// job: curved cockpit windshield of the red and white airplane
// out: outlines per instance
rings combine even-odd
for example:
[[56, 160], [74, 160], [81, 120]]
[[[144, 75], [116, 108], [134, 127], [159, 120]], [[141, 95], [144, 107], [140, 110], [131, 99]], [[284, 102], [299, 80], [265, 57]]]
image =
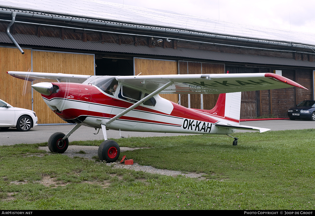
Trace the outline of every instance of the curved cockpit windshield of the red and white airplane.
[[93, 84], [109, 95], [114, 95], [118, 81], [114, 76], [90, 77], [83, 84]]

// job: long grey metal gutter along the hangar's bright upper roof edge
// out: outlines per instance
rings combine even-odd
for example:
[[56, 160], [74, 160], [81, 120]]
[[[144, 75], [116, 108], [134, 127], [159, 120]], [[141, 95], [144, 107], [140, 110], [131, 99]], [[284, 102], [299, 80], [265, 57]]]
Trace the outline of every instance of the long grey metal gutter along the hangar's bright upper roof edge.
[[243, 42], [243, 43], [256, 43], [256, 44], [262, 44], [262, 45], [282, 46], [282, 47], [288, 47], [288, 48], [311, 49], [312, 51], [315, 50], [314, 45], [311, 45], [311, 44], [297, 45], [297, 44], [292, 44], [291, 42], [273, 42], [273, 41], [266, 41], [266, 40], [261, 40], [261, 39], [247, 39], [247, 38], [240, 38], [236, 36], [203, 34], [203, 33], [198, 33], [198, 32], [193, 32], [193, 31], [181, 31], [181, 30], [173, 30], [173, 29], [166, 29], [166, 28], [163, 29], [159, 27], [146, 27], [146, 26], [136, 26], [136, 25], [130, 25], [130, 24], [118, 24], [118, 23], [111, 23], [111, 22], [106, 22], [102, 20], [94, 21], [90, 19], [73, 18], [73, 17], [71, 18], [71, 17], [65, 17], [65, 16], [53, 15], [53, 14], [37, 14], [35, 12], [15, 12], [10, 9], [6, 9], [6, 10], [0, 9], [0, 14], [12, 15], [13, 13], [16, 13], [16, 15], [18, 16], [23, 16], [23, 17], [28, 17], [28, 18], [56, 20], [56, 21], [63, 21], [63, 22], [116, 27], [116, 28], [141, 30], [141, 31], [154, 31], [157, 33], [170, 33], [170, 34], [178, 34], [178, 35], [183, 35], [183, 36], [197, 36], [197, 37], [205, 37], [205, 38], [212, 38], [212, 39], [238, 41], [238, 42]]

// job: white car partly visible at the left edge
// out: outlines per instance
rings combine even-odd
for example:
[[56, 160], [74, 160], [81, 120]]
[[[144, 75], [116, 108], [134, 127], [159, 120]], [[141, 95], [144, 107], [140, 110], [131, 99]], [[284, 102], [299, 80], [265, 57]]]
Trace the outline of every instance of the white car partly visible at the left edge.
[[37, 116], [34, 111], [17, 108], [0, 99], [0, 129], [16, 128], [19, 131], [29, 131], [37, 126]]

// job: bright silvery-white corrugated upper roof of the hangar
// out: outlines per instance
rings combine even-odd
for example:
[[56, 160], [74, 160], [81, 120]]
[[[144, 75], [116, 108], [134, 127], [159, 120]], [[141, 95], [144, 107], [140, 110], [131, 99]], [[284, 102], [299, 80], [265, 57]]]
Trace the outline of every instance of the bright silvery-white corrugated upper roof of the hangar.
[[25, 0], [0, 0], [0, 6], [21, 9], [26, 13], [37, 11], [48, 13], [47, 15], [62, 14], [74, 18], [85, 17], [88, 19], [132, 23], [140, 26], [158, 26], [209, 34], [315, 45], [315, 36], [311, 33], [244, 25], [99, 0], [27, 0], [27, 2]]

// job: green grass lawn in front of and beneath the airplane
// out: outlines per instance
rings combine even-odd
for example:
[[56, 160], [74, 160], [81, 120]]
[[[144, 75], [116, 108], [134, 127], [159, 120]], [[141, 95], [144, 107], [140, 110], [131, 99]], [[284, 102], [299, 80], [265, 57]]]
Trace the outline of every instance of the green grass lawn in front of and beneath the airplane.
[[[0, 146], [0, 209], [315, 209], [314, 129], [123, 138], [140, 165], [199, 179], [116, 169], [47, 154], [41, 144]], [[71, 142], [100, 145], [102, 140]], [[41, 180], [49, 179], [44, 185]]]

